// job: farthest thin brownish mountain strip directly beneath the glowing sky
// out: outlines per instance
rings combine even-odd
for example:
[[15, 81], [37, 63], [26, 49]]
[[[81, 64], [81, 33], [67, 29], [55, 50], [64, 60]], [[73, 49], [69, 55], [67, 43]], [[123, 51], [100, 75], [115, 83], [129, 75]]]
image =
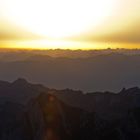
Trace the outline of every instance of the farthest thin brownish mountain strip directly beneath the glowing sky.
[[[4, 47], [4, 46], [3, 46]], [[0, 60], [15, 61], [24, 60], [30, 56], [43, 55], [63, 58], [87, 58], [107, 54], [140, 55], [140, 49], [95, 49], [95, 50], [70, 50], [70, 49], [47, 49], [47, 50], [26, 50], [26, 49], [2, 49], [0, 48]]]

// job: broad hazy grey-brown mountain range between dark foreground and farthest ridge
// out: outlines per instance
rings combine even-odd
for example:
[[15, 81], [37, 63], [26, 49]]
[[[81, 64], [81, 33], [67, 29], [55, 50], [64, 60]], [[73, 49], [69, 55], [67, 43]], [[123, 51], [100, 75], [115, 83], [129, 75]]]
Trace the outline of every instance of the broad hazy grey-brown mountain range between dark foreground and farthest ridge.
[[20, 53], [1, 57], [1, 79], [23, 77], [51, 88], [84, 92], [118, 92], [123, 87], [140, 86], [140, 55], [101, 53], [75, 58]]

